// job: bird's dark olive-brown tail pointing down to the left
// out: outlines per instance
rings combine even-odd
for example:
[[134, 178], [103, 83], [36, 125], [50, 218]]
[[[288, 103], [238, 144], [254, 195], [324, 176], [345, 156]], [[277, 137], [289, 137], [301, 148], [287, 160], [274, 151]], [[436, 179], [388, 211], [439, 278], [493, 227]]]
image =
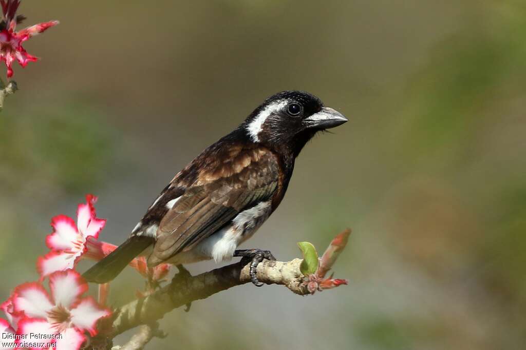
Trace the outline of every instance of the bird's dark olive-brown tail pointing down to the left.
[[113, 280], [131, 260], [153, 243], [151, 237], [131, 236], [107, 257], [82, 275], [88, 282], [106, 283]]

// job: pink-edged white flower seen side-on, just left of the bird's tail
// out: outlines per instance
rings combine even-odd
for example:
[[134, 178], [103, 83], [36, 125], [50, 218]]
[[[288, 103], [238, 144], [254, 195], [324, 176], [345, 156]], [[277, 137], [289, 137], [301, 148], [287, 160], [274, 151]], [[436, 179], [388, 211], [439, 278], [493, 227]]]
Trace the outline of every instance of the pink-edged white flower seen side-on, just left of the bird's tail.
[[72, 218], [65, 215], [55, 216], [51, 220], [53, 232], [46, 237], [46, 245], [51, 251], [44, 257], [39, 257], [37, 261], [37, 270], [41, 278], [55, 271], [73, 269], [86, 252], [88, 239], [98, 238], [106, 220], [96, 217], [96, 201], [97, 197], [86, 195], [86, 203], [78, 205], [77, 225]]

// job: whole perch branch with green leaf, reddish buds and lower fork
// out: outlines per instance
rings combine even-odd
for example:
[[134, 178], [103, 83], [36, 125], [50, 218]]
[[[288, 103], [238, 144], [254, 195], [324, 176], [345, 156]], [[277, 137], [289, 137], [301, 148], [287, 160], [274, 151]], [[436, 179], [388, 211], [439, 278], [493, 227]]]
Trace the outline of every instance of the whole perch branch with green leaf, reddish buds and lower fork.
[[[285, 285], [299, 295], [314, 294], [316, 291], [347, 284], [347, 280], [332, 279], [332, 275], [326, 278], [325, 275], [346, 247], [350, 233], [350, 229], [340, 232], [331, 241], [321, 258], [318, 257], [311, 243], [300, 242], [298, 246], [304, 259], [287, 262], [262, 261], [257, 267], [257, 278], [266, 284]], [[99, 323], [101, 332], [91, 340], [89, 348], [111, 348], [115, 336], [144, 325], [126, 345], [114, 347], [127, 350], [141, 349], [151, 338], [163, 337], [163, 333], [158, 330], [157, 320], [166, 313], [179, 306], [206, 299], [220, 291], [249, 282], [251, 283], [250, 264], [246, 264], [244, 260], [197, 276], [174, 278], [165, 287], [120, 307], [115, 310], [111, 318], [101, 320]]]

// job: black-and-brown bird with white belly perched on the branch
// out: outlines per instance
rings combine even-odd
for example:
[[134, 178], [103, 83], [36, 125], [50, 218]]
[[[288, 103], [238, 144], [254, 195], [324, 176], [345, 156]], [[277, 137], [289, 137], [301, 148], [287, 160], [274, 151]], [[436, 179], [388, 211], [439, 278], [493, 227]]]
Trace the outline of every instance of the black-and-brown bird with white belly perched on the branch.
[[[242, 257], [258, 287], [257, 266], [269, 250], [237, 249], [284, 198], [296, 157], [320, 131], [348, 119], [305, 91], [287, 90], [259, 105], [234, 131], [175, 175], [129, 238], [88, 269], [89, 282], [113, 280], [137, 256], [148, 267]], [[247, 262], [248, 263], [248, 262]]]

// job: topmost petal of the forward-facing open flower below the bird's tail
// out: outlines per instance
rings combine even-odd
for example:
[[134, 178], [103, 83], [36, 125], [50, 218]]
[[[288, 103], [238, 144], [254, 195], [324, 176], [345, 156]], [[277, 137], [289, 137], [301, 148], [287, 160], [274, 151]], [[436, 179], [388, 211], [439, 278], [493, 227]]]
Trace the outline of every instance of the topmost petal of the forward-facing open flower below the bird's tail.
[[59, 271], [49, 276], [49, 289], [55, 305], [69, 309], [88, 290], [88, 284], [77, 271]]

